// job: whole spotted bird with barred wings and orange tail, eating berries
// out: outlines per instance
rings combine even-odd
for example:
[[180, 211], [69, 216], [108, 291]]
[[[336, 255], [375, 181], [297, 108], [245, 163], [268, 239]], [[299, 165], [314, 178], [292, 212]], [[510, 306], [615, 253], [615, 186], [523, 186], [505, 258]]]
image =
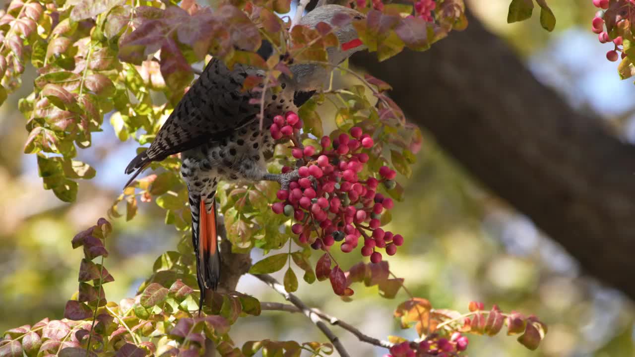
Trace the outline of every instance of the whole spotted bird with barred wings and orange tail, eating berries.
[[[359, 19], [364, 15], [351, 8], [325, 5], [309, 12], [300, 24], [315, 27], [325, 22], [336, 28], [340, 43], [358, 38], [352, 24], [337, 27], [331, 24], [338, 14]], [[342, 50], [328, 48], [329, 62], [340, 64], [363, 46]], [[271, 55], [271, 44], [264, 43], [258, 54]], [[281, 76], [282, 91], [265, 92], [264, 125], [260, 130], [260, 105], [250, 104], [251, 98], [262, 93], [243, 92], [247, 76], [264, 76], [261, 69], [234, 65], [230, 71], [221, 60], [211, 60], [201, 76], [192, 84], [175, 107], [147, 151], [134, 158], [126, 173], [135, 172], [128, 184], [151, 161], [181, 152], [181, 175], [189, 191], [192, 212], [192, 243], [196, 253], [197, 281], [201, 289], [199, 307], [204, 302], [205, 289], [215, 290], [220, 279], [220, 252], [217, 245], [215, 194], [218, 182], [274, 180], [287, 182], [288, 175], [267, 172], [265, 154], [272, 152], [274, 140], [269, 132], [272, 118], [287, 111], [297, 111], [315, 91], [319, 90], [331, 69], [314, 64], [291, 65], [293, 76]]]

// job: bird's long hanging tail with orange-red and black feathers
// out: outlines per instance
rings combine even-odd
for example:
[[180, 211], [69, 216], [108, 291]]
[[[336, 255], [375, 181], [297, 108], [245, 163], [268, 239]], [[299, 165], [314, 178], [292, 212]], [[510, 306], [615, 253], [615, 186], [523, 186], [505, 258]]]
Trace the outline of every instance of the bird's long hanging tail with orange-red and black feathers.
[[192, 211], [192, 245], [196, 254], [196, 280], [201, 289], [199, 311], [205, 301], [205, 290], [216, 290], [220, 280], [220, 250], [218, 250], [216, 200], [208, 212], [204, 197], [190, 193]]

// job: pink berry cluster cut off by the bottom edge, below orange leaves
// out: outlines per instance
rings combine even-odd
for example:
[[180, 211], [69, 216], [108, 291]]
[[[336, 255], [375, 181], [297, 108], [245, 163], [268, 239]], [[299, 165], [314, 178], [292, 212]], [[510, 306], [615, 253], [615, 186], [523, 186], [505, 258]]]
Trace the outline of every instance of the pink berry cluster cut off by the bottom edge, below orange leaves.
[[392, 346], [390, 354], [384, 354], [384, 357], [456, 356], [467, 349], [468, 342], [467, 337], [460, 332], [455, 332], [452, 333], [450, 340], [443, 337], [427, 339], [419, 342], [415, 349], [412, 348], [410, 342], [401, 342]]

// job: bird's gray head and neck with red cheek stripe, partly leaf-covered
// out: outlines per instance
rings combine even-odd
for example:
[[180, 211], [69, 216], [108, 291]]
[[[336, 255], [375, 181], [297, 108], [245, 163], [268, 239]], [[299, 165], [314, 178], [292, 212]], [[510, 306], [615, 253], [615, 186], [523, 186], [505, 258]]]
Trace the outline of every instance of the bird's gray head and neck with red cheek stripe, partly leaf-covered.
[[[336, 24], [342, 23], [342, 17], [350, 17], [351, 21], [345, 25], [338, 26]], [[357, 10], [347, 8], [345, 6], [328, 4], [319, 6], [313, 11], [310, 11], [302, 17], [300, 25], [308, 27], [315, 27], [319, 22], [324, 22], [333, 27], [335, 36], [340, 42], [340, 46], [343, 43], [347, 43], [354, 39], [359, 38], [355, 27], [352, 25], [352, 20], [358, 20], [364, 18], [364, 14]], [[333, 24], [335, 22], [336, 24]], [[338, 65], [357, 51], [365, 50], [366, 46], [361, 45], [349, 50], [343, 51], [341, 47], [327, 48], [328, 61], [331, 65]], [[324, 80], [328, 78], [328, 72], [333, 68], [326, 69], [324, 66], [316, 64], [297, 64], [291, 66], [291, 72], [293, 72], [293, 79], [296, 82], [298, 89], [302, 90], [316, 90], [319, 89]]]

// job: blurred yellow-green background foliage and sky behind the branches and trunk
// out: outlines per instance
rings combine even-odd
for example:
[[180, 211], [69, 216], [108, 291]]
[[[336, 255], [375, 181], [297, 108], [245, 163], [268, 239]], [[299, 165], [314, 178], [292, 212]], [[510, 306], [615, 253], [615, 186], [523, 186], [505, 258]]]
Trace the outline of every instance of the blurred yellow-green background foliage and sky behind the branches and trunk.
[[[635, 87], [619, 81], [617, 65], [606, 61], [606, 48], [589, 30], [595, 11], [590, 0], [549, 0], [558, 19], [553, 33], [540, 28], [537, 16], [506, 24], [509, 0], [469, 3], [490, 30], [525, 58], [538, 79], [561, 91], [573, 107], [599, 112], [617, 135], [635, 142], [635, 107], [627, 100]], [[79, 151], [79, 159], [97, 168], [97, 177], [80, 182], [77, 202], [62, 203], [45, 191], [36, 158], [22, 154], [27, 131], [17, 110], [33, 78], [27, 70], [23, 88], [0, 107], [0, 330], [45, 316], [62, 318], [65, 301], [76, 290], [81, 259], [70, 239], [105, 215], [126, 181], [123, 168], [135, 154], [135, 144], [119, 142], [106, 118], [93, 146]], [[399, 180], [406, 187], [406, 201], [394, 208], [389, 229], [403, 234], [406, 246], [389, 262], [415, 295], [427, 297], [435, 307], [460, 311], [467, 310], [470, 300], [496, 303], [505, 311], [535, 313], [549, 325], [535, 352], [504, 335], [471, 336], [470, 356], [635, 356], [632, 303], [582, 276], [576, 262], [531, 220], [474, 182], [433, 138], [426, 137], [413, 177]], [[116, 281], [106, 286], [106, 293], [115, 301], [133, 296], [157, 255], [180, 238], [172, 227], [164, 229], [163, 210], [154, 202], [140, 204], [139, 212], [131, 222], [114, 220], [114, 234], [107, 242], [110, 256], [105, 265]], [[260, 259], [257, 254], [255, 260]], [[238, 290], [261, 301], [278, 300], [250, 276], [242, 278]], [[392, 309], [406, 295], [400, 292], [397, 300], [384, 300], [376, 290], [358, 286], [354, 301], [346, 303], [330, 288], [300, 281], [298, 295], [374, 337], [403, 334], [392, 320]], [[239, 320], [232, 330], [238, 343], [323, 339], [303, 316], [269, 311]], [[347, 333], [338, 335], [358, 356], [384, 353]]]

